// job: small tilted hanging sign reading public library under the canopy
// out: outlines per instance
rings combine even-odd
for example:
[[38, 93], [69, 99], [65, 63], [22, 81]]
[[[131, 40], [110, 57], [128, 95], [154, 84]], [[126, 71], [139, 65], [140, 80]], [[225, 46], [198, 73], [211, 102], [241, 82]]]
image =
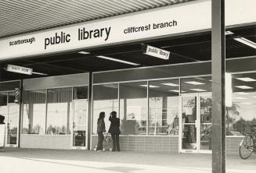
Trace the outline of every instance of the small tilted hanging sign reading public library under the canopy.
[[146, 52], [144, 54], [154, 56], [161, 59], [169, 59], [170, 51], [165, 51], [160, 48], [155, 48], [150, 45], [146, 45]]

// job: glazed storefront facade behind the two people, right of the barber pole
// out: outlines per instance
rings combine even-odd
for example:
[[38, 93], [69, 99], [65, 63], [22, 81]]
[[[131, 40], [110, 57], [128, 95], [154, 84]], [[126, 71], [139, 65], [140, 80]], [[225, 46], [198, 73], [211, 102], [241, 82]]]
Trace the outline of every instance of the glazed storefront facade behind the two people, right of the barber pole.
[[[227, 154], [237, 154], [240, 139], [255, 122], [254, 89], [237, 87], [254, 87], [253, 81], [243, 81], [254, 79], [254, 62], [227, 61], [233, 76], [233, 107], [226, 114]], [[108, 115], [117, 111], [121, 150], [211, 154], [210, 67], [211, 62], [196, 62], [92, 73], [91, 107], [88, 73], [25, 79], [20, 147], [93, 150], [99, 112], [106, 112], [108, 129]], [[55, 82], [46, 84], [49, 81]]]

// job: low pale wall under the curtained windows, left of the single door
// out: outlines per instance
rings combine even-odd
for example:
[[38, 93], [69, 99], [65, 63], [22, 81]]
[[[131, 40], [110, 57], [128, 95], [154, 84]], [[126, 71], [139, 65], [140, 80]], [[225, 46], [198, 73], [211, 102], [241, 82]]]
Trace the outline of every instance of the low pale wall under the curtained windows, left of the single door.
[[20, 148], [46, 148], [70, 150], [71, 136], [21, 135]]

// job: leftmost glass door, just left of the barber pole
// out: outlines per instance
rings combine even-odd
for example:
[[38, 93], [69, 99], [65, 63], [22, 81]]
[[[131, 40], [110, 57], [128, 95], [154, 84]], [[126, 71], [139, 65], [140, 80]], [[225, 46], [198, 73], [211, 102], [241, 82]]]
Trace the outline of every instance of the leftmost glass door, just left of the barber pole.
[[20, 104], [8, 104], [8, 115], [5, 117], [6, 124], [6, 146], [17, 147]]

